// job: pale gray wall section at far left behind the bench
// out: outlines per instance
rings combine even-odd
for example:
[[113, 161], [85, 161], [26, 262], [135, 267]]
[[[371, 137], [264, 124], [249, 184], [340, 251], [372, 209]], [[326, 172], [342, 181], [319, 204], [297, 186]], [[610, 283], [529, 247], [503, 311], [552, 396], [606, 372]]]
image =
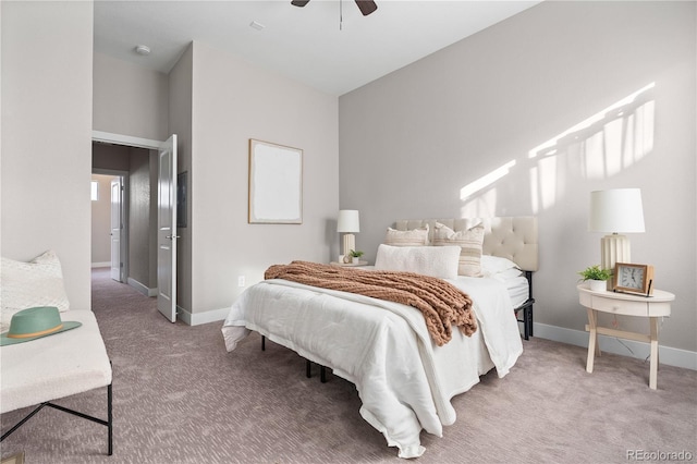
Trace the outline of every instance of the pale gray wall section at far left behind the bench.
[[1, 253], [58, 254], [90, 307], [91, 2], [0, 2]]

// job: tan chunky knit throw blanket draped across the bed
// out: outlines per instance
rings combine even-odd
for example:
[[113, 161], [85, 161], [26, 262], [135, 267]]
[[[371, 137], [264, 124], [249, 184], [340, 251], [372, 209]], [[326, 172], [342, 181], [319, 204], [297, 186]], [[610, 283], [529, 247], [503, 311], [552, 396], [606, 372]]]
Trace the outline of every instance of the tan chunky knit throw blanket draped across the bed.
[[452, 326], [460, 327], [467, 337], [477, 330], [469, 296], [435, 277], [293, 261], [271, 266], [264, 278], [285, 279], [413, 306], [424, 314], [428, 332], [439, 346], [452, 339]]

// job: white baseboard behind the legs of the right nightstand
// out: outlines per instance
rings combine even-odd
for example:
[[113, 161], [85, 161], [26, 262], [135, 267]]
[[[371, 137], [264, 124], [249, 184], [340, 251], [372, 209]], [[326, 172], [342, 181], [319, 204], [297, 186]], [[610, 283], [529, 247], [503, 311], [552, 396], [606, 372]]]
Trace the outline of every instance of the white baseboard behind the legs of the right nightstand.
[[[555, 342], [567, 343], [576, 346], [588, 347], [588, 332], [563, 327], [548, 326], [546, 323], [533, 325], [535, 337], [553, 340]], [[659, 338], [660, 340], [660, 338]], [[646, 359], [650, 353], [650, 346], [645, 342], [616, 339], [614, 337], [598, 335], [600, 350], [631, 356], [637, 359]], [[674, 349], [659, 345], [660, 363], [669, 366], [683, 367], [685, 369], [697, 370], [697, 353], [687, 350]]]

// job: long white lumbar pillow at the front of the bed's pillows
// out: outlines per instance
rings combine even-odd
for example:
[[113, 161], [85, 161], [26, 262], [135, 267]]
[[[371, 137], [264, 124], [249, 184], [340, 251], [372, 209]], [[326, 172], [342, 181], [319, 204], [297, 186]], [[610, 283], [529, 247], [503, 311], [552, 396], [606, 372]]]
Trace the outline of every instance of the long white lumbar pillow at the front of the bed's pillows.
[[456, 279], [460, 246], [378, 246], [375, 269]]

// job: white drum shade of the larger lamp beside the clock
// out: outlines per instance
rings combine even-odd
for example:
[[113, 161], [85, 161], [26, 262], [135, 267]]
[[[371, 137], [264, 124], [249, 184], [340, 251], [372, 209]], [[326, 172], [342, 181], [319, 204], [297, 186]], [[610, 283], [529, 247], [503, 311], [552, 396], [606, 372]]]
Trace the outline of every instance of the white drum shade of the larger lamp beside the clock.
[[640, 188], [612, 188], [590, 193], [588, 230], [592, 232], [644, 232]]

